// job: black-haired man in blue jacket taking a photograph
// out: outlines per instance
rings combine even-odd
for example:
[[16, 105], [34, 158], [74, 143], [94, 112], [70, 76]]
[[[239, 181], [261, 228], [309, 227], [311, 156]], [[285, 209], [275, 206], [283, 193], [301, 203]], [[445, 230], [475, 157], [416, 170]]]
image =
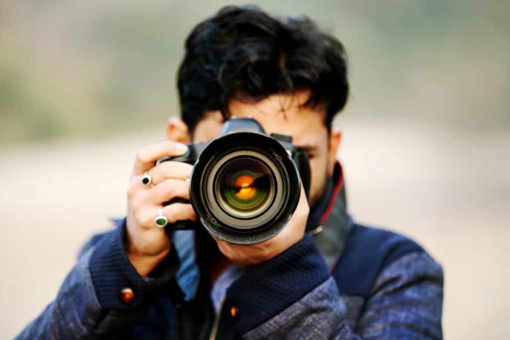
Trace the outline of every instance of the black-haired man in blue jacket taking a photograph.
[[[331, 127], [348, 95], [340, 42], [308, 19], [226, 7], [191, 32], [178, 77], [182, 118], [170, 119], [167, 141], [138, 152], [126, 218], [82, 249], [19, 338], [442, 338], [441, 267], [346, 212]], [[260, 244], [217, 240], [199, 222], [167, 234], [157, 216], [197, 219], [186, 201], [163, 206], [189, 199], [192, 167], [155, 161], [214, 139], [233, 116], [308, 150], [308, 201], [301, 189], [283, 231]]]

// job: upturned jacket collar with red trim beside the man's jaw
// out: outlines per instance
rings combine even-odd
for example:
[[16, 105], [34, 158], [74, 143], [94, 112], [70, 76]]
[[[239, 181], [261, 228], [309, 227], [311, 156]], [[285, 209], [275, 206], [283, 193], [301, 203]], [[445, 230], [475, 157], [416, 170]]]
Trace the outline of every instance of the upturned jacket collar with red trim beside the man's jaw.
[[335, 265], [344, 249], [351, 223], [347, 214], [342, 166], [337, 162], [322, 198], [310, 211], [306, 229], [313, 234], [329, 268]]

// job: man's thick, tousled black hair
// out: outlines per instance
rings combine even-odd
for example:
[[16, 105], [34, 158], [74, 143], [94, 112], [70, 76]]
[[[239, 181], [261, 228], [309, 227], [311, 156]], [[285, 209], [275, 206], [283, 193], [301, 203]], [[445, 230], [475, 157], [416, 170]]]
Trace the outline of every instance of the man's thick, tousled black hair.
[[232, 99], [298, 90], [310, 91], [303, 105], [323, 109], [329, 130], [347, 101], [344, 47], [308, 17], [276, 19], [255, 6], [227, 6], [196, 25], [185, 47], [177, 88], [191, 132], [207, 111], [227, 119]]

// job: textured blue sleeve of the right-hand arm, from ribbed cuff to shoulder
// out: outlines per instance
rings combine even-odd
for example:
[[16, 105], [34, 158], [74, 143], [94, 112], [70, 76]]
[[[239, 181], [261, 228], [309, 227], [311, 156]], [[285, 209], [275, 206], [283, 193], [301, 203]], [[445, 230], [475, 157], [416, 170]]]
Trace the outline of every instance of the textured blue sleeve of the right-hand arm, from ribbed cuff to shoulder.
[[427, 254], [407, 254], [379, 275], [367, 301], [342, 298], [329, 278], [243, 338], [442, 339], [442, 278]]

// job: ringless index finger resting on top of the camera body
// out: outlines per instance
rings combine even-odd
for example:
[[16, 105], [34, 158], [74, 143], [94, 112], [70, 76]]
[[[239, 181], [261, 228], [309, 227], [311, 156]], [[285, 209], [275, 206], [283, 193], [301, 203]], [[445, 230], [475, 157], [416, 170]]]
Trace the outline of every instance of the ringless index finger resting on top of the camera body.
[[133, 175], [141, 175], [154, 167], [154, 163], [165, 156], [180, 156], [186, 153], [188, 147], [174, 141], [163, 141], [143, 147], [136, 155]]

